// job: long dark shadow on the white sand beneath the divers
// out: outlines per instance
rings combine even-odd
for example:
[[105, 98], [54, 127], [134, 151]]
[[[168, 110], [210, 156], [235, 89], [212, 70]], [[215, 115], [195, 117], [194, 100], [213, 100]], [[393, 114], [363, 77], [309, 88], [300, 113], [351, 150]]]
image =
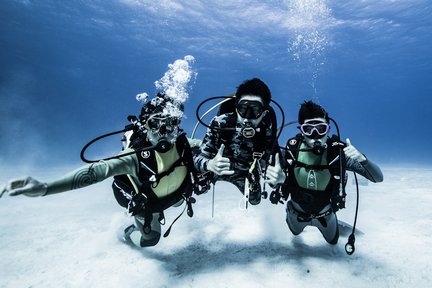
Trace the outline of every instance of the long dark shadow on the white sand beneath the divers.
[[264, 262], [268, 267], [293, 265], [300, 272], [309, 273], [307, 259], [350, 262], [362, 257], [360, 254], [348, 256], [344, 250], [345, 244], [342, 243], [335, 246], [327, 243], [310, 246], [305, 244], [301, 237], [293, 237], [291, 243], [271, 241], [253, 244], [223, 243], [223, 241], [219, 243], [216, 248], [209, 243], [197, 242], [169, 254], [152, 250], [141, 250], [141, 253], [146, 258], [163, 263], [163, 267], [170, 275], [180, 278], [213, 273], [233, 266], [243, 266], [244, 269], [248, 269], [251, 263], [256, 262]]

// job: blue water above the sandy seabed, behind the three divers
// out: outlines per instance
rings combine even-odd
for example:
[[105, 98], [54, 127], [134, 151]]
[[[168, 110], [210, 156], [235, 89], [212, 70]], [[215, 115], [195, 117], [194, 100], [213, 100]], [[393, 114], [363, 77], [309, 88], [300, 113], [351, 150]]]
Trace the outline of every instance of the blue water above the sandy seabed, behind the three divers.
[[430, 1], [207, 2], [1, 1], [1, 164], [79, 164], [88, 140], [139, 112], [136, 94], [193, 55], [188, 134], [199, 102], [259, 77], [287, 121], [313, 99], [375, 162], [430, 165]]

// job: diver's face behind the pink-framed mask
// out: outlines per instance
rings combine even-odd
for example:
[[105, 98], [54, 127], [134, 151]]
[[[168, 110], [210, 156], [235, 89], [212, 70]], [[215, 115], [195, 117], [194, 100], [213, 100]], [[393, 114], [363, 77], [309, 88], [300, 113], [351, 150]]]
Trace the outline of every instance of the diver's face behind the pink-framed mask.
[[299, 129], [309, 147], [314, 147], [316, 145], [325, 146], [330, 126], [326, 119], [318, 117], [305, 120], [305, 122], [299, 126]]

